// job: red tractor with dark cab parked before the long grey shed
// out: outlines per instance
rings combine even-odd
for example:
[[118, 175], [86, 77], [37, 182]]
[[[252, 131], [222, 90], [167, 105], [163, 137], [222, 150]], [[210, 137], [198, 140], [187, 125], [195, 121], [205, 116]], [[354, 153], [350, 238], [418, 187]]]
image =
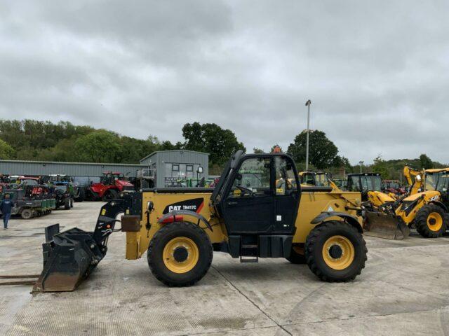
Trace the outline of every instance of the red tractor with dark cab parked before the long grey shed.
[[121, 173], [104, 172], [100, 183], [92, 183], [88, 187], [88, 196], [93, 201], [109, 202], [118, 198], [122, 191], [134, 191], [133, 184], [126, 181]]

